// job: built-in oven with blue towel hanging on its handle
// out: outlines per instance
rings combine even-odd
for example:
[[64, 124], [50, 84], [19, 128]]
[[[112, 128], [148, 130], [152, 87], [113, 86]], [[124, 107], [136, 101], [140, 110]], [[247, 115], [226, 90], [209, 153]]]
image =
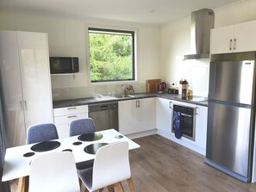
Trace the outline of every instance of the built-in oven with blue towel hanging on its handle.
[[172, 105], [172, 133], [179, 139], [184, 137], [195, 140], [197, 108], [184, 105]]

